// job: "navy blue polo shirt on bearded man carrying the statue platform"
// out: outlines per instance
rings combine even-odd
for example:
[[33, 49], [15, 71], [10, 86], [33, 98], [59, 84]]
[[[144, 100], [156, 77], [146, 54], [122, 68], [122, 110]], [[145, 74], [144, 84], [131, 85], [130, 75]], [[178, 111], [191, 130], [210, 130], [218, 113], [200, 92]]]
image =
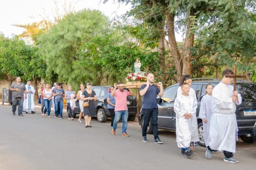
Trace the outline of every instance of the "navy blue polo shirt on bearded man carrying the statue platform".
[[[140, 90], [143, 90], [145, 87], [146, 84], [141, 85]], [[158, 108], [156, 101], [156, 96], [158, 93], [160, 93], [160, 90], [156, 85], [149, 85], [148, 90], [142, 98], [142, 109]]]

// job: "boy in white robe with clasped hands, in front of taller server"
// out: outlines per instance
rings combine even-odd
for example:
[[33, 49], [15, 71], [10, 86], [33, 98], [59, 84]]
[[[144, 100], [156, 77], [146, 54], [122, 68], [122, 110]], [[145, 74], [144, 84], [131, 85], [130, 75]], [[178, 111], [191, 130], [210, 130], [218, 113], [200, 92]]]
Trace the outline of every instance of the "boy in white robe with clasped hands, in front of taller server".
[[196, 112], [197, 103], [194, 97], [189, 96], [190, 87], [188, 83], [181, 84], [181, 95], [177, 96], [174, 102], [174, 111], [176, 113], [176, 141], [181, 148], [181, 154], [186, 157], [193, 157], [194, 152], [190, 149], [191, 142], [191, 118]]

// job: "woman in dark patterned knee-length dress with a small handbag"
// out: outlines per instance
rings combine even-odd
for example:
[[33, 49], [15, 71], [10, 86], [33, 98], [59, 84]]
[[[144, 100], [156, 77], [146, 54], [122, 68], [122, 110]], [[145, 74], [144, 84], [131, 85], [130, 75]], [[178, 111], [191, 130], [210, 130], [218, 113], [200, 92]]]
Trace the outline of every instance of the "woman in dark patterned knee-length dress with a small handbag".
[[82, 93], [81, 99], [84, 100], [84, 119], [85, 128], [91, 127], [91, 117], [95, 116], [95, 106], [94, 101], [97, 100], [96, 93], [91, 89], [91, 83], [86, 84], [87, 90]]

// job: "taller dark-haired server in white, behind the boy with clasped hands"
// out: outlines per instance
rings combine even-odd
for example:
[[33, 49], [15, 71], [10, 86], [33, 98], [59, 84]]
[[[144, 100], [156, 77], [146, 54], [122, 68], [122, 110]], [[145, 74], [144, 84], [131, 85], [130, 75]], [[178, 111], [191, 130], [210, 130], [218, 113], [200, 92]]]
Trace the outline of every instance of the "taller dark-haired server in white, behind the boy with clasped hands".
[[[189, 75], [185, 75], [181, 78], [180, 80], [180, 85], [182, 83], [188, 83], [189, 87], [191, 86], [192, 84], [192, 78], [189, 76]], [[189, 88], [189, 93], [188, 95], [190, 97], [193, 97], [194, 98], [194, 105], [195, 106], [198, 106], [198, 99], [197, 99], [197, 95], [194, 91], [193, 88]], [[177, 97], [178, 96], [181, 96], [181, 87], [178, 88], [178, 91], [177, 91]], [[194, 147], [197, 145], [198, 141], [199, 141], [199, 138], [198, 138], [198, 121], [197, 121], [197, 116], [196, 116], [196, 108], [194, 110], [194, 112], [192, 113], [192, 117], [189, 121], [189, 130], [190, 130], [190, 135], [191, 135], [191, 142], [190, 142], [190, 150], [191, 151], [194, 151]]]

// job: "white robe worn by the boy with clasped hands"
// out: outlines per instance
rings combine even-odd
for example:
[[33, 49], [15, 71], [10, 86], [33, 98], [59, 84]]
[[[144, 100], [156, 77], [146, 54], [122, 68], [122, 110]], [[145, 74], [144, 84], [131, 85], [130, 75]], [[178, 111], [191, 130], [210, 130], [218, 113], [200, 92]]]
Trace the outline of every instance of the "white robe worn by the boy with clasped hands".
[[[187, 148], [191, 142], [191, 118], [187, 119], [184, 114], [192, 113], [196, 110], [197, 104], [194, 97], [179, 95], [174, 102], [176, 113], [176, 141], [179, 148]], [[198, 135], [197, 135], [198, 137]]]

